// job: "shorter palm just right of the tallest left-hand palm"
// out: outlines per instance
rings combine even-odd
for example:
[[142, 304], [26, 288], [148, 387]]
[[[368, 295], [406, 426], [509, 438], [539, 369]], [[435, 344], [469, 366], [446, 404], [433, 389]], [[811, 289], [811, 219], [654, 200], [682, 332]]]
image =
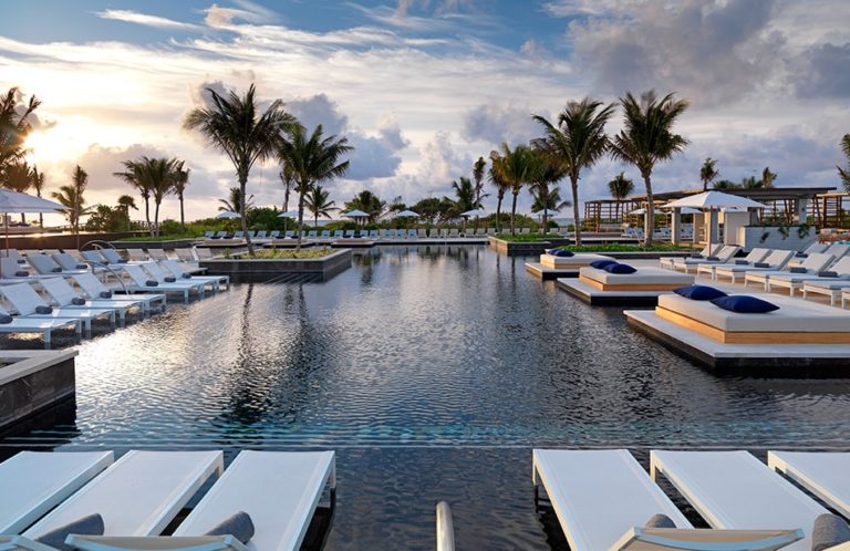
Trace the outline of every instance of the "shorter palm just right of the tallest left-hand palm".
[[293, 125], [286, 136], [281, 136], [278, 158], [283, 166], [289, 165], [298, 191], [298, 245], [301, 249], [301, 227], [304, 223], [304, 196], [322, 181], [338, 178], [349, 169], [349, 162], [340, 163], [340, 157], [352, 150], [349, 141], [336, 136], [322, 137], [322, 125], [318, 125], [308, 137], [301, 125]]

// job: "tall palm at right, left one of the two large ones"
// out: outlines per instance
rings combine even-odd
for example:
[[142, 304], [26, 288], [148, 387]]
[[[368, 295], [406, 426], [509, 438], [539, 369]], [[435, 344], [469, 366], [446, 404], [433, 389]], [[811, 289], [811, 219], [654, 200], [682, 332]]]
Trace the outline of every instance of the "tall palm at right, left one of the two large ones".
[[614, 104], [603, 105], [602, 102], [585, 97], [580, 102], [567, 103], [567, 107], [558, 115], [558, 126], [542, 116], [533, 116], [546, 132], [546, 136], [535, 141], [535, 145], [550, 150], [570, 177], [576, 245], [581, 245], [579, 177], [583, 169], [595, 165], [608, 152], [605, 124], [614, 114]]

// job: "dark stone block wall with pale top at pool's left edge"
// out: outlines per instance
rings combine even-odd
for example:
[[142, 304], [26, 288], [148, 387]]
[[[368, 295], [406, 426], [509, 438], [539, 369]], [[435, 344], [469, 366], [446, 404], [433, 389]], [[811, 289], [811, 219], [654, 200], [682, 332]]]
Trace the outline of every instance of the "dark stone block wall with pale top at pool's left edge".
[[74, 356], [66, 351], [2, 351], [0, 430], [56, 405], [76, 391]]

